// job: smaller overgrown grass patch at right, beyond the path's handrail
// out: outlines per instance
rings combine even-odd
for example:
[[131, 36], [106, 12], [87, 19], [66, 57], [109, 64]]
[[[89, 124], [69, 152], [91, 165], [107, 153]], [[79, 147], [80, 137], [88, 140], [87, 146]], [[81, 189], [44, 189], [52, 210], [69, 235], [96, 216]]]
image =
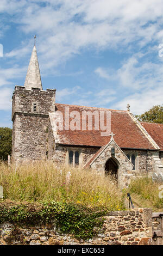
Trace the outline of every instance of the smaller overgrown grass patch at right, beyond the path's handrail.
[[161, 211], [163, 210], [163, 198], [159, 197], [159, 194], [161, 196], [161, 188], [159, 190], [161, 185], [163, 183], [153, 182], [152, 178], [136, 178], [131, 180], [129, 193], [137, 206]]

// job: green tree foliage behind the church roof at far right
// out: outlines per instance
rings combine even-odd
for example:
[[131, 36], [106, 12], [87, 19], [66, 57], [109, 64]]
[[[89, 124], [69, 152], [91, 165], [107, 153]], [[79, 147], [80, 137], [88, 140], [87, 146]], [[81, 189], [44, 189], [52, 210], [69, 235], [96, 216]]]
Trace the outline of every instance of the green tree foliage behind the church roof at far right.
[[139, 121], [163, 124], [163, 105], [155, 105], [149, 111], [135, 117]]

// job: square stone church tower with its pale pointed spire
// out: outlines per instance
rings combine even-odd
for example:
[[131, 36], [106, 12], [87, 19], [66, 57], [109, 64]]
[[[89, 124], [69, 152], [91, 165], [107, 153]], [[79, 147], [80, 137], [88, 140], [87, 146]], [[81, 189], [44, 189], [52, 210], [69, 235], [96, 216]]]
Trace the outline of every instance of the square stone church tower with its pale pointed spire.
[[55, 111], [55, 89], [42, 90], [34, 45], [24, 86], [12, 96], [12, 161], [46, 159], [49, 112]]

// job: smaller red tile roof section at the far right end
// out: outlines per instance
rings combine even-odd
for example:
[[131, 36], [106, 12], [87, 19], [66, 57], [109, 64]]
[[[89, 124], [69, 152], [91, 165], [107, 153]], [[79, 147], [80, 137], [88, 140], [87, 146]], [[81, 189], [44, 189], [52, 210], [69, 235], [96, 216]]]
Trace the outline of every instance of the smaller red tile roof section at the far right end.
[[163, 150], [163, 124], [141, 122], [142, 126], [146, 129], [149, 135]]

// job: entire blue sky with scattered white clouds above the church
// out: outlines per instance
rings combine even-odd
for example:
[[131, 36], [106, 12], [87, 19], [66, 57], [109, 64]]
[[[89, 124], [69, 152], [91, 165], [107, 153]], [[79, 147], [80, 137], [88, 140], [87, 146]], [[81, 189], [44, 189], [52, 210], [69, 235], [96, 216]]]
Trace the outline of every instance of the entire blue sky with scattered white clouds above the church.
[[43, 89], [56, 101], [141, 114], [162, 104], [162, 0], [1, 0], [0, 126], [23, 86], [36, 34]]

